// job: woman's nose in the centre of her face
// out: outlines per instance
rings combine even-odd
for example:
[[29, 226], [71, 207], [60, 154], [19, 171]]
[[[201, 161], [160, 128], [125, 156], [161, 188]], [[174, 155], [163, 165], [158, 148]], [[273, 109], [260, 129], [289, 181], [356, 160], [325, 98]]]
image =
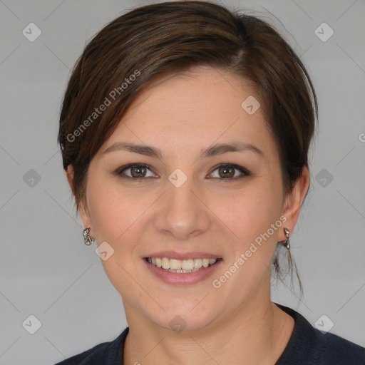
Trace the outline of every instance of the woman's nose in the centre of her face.
[[210, 210], [202, 191], [187, 178], [180, 187], [170, 181], [158, 202], [155, 229], [175, 240], [188, 240], [206, 232], [211, 224]]

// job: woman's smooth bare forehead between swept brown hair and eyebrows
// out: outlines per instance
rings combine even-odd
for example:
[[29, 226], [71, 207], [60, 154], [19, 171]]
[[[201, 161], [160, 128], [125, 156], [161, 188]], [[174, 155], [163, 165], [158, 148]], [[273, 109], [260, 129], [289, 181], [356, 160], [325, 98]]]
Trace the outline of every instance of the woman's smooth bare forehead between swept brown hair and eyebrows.
[[242, 139], [263, 150], [275, 148], [262, 106], [249, 81], [195, 67], [161, 76], [141, 91], [104, 147], [120, 139], [166, 148]]

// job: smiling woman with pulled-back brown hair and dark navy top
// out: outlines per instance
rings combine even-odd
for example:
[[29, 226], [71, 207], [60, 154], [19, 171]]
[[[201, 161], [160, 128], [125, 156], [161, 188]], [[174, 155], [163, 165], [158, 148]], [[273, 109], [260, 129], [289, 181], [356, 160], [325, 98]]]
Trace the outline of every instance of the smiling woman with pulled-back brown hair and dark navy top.
[[270, 299], [316, 116], [302, 62], [254, 16], [176, 1], [102, 29], [58, 140], [129, 327], [59, 364], [363, 364], [363, 347]]

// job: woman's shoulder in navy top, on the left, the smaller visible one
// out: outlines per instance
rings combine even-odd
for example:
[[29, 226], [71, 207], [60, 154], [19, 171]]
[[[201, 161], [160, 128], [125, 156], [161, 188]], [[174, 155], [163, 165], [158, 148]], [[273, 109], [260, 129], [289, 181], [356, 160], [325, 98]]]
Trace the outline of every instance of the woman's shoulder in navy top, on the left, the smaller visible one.
[[128, 334], [127, 327], [113, 341], [103, 342], [93, 346], [91, 349], [81, 352], [58, 362], [55, 365], [96, 365], [96, 364], [122, 364], [123, 363], [123, 347], [125, 337]]

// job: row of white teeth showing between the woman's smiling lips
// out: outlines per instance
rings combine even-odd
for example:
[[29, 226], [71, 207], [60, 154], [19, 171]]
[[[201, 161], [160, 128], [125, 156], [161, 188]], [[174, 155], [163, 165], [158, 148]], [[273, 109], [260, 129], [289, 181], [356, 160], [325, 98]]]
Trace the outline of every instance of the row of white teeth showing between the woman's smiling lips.
[[168, 272], [186, 274], [197, 272], [216, 264], [221, 259], [168, 259], [167, 257], [145, 257], [145, 261]]

